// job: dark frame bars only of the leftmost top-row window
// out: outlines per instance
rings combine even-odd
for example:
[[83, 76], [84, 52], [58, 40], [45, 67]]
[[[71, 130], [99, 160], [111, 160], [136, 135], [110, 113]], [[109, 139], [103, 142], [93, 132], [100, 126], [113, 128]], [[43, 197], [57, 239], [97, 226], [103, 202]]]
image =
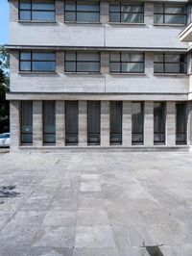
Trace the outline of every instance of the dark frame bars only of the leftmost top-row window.
[[[43, 9], [33, 9], [32, 5], [33, 5], [33, 0], [29, 0], [29, 4], [30, 4], [30, 9], [23, 9], [20, 8], [20, 4], [21, 4], [21, 0], [18, 0], [18, 19], [19, 20], [24, 20], [24, 21], [28, 21], [28, 20], [34, 20], [34, 21], [45, 21], [45, 22], [55, 22], [56, 21], [56, 0], [54, 0], [54, 10], [43, 10]], [[21, 12], [30, 12], [30, 19], [21, 19], [20, 18], [20, 13]], [[34, 19], [33, 18], [33, 12], [40, 12], [40, 13], [54, 13], [54, 20], [48, 20], [48, 19]]]

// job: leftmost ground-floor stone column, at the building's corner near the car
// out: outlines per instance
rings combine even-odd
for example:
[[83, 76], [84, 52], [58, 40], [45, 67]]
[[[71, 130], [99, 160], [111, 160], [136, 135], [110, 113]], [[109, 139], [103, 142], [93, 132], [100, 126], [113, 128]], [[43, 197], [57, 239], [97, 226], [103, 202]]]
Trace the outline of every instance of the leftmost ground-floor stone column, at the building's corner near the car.
[[20, 144], [20, 102], [10, 102], [10, 133], [11, 133], [11, 152], [18, 150]]

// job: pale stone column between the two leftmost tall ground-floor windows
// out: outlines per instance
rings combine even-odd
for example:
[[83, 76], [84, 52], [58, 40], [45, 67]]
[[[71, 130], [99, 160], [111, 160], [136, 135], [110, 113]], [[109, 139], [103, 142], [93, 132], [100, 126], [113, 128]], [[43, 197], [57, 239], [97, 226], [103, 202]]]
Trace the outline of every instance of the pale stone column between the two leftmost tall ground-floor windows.
[[42, 146], [42, 101], [33, 101], [33, 145]]

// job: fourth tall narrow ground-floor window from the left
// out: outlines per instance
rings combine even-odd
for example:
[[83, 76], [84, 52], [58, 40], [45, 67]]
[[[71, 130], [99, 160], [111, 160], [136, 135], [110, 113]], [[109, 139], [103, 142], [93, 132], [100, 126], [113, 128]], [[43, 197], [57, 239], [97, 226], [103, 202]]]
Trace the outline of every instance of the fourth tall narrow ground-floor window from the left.
[[101, 106], [100, 101], [88, 101], [88, 144], [100, 144], [100, 116], [101, 116]]

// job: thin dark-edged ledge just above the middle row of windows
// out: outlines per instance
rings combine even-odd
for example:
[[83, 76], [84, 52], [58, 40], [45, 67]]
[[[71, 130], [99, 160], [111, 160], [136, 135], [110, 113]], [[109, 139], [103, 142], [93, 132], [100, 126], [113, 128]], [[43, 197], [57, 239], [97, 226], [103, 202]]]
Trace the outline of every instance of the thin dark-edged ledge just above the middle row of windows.
[[94, 50], [94, 51], [137, 51], [137, 52], [183, 52], [188, 48], [160, 47], [105, 47], [105, 46], [66, 46], [66, 45], [6, 45], [7, 50]]

